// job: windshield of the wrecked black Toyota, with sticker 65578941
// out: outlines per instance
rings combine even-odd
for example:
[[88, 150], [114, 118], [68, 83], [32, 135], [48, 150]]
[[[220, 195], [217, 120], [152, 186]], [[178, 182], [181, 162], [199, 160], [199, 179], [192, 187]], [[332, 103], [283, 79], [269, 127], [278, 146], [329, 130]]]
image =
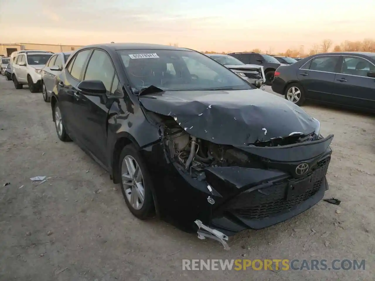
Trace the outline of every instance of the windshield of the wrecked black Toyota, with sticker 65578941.
[[153, 85], [168, 91], [253, 89], [205, 55], [179, 50], [118, 51], [133, 92]]

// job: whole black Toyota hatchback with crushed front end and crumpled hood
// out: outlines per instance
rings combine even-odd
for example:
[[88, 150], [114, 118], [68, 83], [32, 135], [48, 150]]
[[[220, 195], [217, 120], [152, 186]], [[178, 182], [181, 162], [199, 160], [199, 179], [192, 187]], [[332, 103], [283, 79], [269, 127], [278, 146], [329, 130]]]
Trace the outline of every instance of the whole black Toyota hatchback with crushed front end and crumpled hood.
[[226, 240], [309, 209], [333, 135], [299, 106], [190, 49], [86, 46], [51, 99], [58, 138], [107, 169], [130, 211]]

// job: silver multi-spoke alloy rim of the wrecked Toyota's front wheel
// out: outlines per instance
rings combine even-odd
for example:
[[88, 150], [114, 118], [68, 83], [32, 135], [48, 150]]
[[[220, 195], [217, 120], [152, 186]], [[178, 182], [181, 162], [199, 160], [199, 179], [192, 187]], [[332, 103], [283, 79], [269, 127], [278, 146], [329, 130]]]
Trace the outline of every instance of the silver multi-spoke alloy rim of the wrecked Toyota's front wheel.
[[121, 165], [121, 173], [127, 200], [135, 210], [141, 209], [145, 194], [144, 181], [139, 164], [132, 156], [125, 156]]

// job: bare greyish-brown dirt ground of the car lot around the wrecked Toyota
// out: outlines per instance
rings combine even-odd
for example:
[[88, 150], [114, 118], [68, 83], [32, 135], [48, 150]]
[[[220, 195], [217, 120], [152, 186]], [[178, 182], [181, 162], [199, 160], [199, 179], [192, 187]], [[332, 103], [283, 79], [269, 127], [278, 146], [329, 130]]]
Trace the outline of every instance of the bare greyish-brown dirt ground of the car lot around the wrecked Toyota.
[[[373, 280], [375, 118], [303, 108], [323, 135], [335, 134], [325, 197], [341, 205], [321, 201], [285, 223], [239, 233], [225, 251], [163, 221], [134, 218], [108, 173], [75, 143], [58, 141], [42, 94], [0, 77], [0, 280]], [[52, 178], [38, 185], [33, 176]], [[366, 269], [182, 271], [182, 259], [244, 256], [366, 259]]]

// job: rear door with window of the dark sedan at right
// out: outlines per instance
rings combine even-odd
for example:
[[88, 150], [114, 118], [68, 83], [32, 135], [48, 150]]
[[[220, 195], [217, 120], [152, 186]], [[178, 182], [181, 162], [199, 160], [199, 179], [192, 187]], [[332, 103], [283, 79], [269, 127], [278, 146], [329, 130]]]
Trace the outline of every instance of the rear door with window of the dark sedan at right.
[[297, 70], [297, 78], [307, 99], [335, 102], [335, 76], [339, 62], [339, 55], [323, 55], [312, 58]]

